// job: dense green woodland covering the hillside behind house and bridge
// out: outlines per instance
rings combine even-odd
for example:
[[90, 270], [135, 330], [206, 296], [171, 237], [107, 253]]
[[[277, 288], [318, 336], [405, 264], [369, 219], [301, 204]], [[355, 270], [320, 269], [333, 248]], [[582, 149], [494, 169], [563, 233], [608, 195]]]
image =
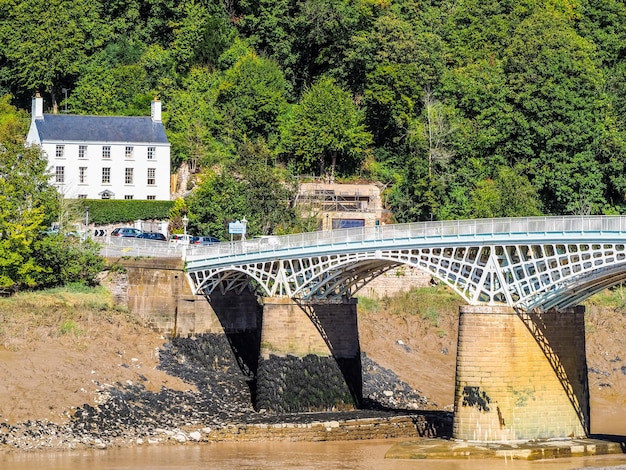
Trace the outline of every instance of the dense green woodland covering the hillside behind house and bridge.
[[305, 176], [397, 222], [621, 214], [625, 53], [620, 0], [1, 0], [0, 108], [159, 96], [197, 233], [306, 230]]

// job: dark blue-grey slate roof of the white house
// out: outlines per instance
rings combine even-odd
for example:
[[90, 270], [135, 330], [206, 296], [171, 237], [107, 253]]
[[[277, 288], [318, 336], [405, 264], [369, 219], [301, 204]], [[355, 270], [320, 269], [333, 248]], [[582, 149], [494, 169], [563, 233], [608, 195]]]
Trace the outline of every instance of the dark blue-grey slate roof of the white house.
[[169, 143], [163, 123], [151, 117], [44, 114], [35, 122], [41, 142]]

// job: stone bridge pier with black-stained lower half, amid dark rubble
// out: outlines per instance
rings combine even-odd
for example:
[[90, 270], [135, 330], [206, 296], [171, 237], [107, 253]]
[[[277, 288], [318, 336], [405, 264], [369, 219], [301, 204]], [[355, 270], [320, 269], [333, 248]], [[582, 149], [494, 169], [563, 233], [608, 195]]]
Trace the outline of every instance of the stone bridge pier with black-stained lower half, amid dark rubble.
[[353, 409], [361, 396], [356, 299], [306, 305], [263, 299], [257, 409]]

